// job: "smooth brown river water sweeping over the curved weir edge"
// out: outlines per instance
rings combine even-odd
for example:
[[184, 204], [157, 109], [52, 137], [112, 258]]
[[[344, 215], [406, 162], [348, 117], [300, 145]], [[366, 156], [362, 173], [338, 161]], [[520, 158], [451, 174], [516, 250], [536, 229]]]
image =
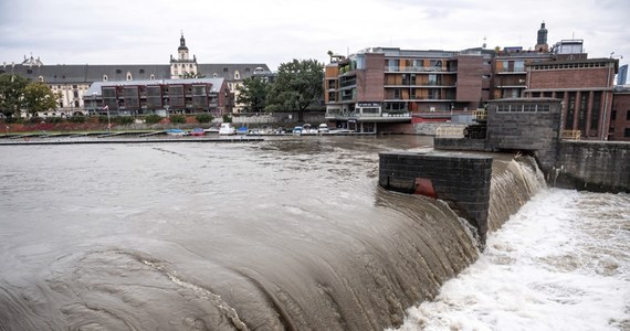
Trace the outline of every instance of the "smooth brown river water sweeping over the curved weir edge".
[[[377, 185], [379, 151], [429, 145], [1, 147], [0, 330], [421, 329], [406, 309], [480, 254], [444, 203]], [[515, 163], [493, 192], [537, 190]]]

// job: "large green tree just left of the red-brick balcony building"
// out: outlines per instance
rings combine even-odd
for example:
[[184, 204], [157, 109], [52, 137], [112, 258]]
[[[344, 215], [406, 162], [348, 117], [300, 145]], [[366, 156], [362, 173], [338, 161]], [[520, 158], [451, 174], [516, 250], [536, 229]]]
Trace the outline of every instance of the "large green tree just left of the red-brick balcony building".
[[267, 95], [269, 111], [297, 110], [304, 121], [304, 110], [324, 94], [324, 65], [316, 60], [293, 60], [282, 63]]

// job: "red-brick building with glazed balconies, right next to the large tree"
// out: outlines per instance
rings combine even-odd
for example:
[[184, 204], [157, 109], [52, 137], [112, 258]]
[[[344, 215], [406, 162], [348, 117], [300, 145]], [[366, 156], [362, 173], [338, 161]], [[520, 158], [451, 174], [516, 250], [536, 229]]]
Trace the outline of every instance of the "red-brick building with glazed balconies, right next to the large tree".
[[[412, 114], [473, 110], [490, 96], [491, 53], [372, 47], [333, 55], [325, 68], [326, 118], [359, 131], [410, 124]], [[380, 127], [380, 129], [379, 129]]]

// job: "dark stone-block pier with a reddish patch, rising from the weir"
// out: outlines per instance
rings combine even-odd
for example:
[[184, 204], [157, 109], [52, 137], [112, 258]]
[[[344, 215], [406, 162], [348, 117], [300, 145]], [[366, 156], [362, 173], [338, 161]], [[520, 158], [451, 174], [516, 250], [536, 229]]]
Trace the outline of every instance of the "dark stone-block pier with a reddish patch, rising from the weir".
[[382, 152], [379, 185], [440, 199], [479, 231], [485, 245], [492, 158], [455, 153]]

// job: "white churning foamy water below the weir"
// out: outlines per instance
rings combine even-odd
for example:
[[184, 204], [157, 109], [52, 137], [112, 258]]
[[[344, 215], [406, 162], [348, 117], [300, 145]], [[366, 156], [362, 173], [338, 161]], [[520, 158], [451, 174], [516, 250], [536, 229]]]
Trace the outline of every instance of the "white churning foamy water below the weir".
[[399, 330], [630, 330], [629, 205], [544, 190]]

